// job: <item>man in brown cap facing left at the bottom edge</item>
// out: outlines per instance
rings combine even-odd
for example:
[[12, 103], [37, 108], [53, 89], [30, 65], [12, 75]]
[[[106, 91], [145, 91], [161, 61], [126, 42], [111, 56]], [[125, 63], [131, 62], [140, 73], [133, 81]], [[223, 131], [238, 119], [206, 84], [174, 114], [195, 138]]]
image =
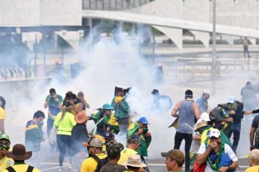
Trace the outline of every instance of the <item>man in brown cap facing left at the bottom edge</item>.
[[172, 149], [168, 152], [161, 152], [162, 157], [166, 157], [166, 168], [172, 172], [184, 172], [181, 167], [184, 165], [184, 153], [178, 149]]

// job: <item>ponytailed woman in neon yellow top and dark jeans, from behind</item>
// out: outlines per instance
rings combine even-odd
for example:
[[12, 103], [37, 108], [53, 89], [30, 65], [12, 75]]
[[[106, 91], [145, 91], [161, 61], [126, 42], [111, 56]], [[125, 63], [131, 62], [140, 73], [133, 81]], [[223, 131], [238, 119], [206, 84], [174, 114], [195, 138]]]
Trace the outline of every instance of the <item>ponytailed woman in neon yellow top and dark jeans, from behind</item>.
[[71, 108], [73, 108], [73, 106], [71, 106], [69, 102], [64, 101], [62, 111], [57, 114], [54, 122], [54, 126], [57, 127], [57, 146], [60, 150], [60, 169], [58, 171], [64, 171], [64, 155], [66, 153], [66, 148], [68, 148], [67, 150], [70, 149], [71, 131], [73, 126], [76, 124], [73, 114], [70, 113]]

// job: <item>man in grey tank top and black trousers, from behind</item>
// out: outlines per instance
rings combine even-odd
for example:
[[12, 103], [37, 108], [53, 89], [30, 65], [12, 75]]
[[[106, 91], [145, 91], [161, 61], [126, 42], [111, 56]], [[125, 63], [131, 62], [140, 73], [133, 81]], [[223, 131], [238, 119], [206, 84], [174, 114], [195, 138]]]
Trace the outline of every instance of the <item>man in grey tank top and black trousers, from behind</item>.
[[[179, 115], [177, 112], [179, 111]], [[199, 106], [193, 101], [193, 91], [186, 90], [185, 99], [177, 102], [171, 115], [178, 117], [177, 133], [175, 134], [174, 149], [180, 149], [182, 140], [185, 140], [186, 171], [190, 171], [190, 145], [193, 141], [193, 127], [199, 119]]]

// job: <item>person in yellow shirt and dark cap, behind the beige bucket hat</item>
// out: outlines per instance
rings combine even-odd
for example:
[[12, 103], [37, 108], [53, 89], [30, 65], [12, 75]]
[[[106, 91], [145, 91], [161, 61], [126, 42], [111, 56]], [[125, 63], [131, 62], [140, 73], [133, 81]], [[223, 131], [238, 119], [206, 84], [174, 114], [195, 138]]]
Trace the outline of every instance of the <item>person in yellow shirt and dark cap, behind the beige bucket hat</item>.
[[138, 152], [136, 150], [139, 149], [139, 145], [141, 145], [141, 137], [139, 135], [132, 135], [127, 139], [127, 148], [120, 152], [120, 160], [118, 160], [118, 164], [122, 165], [127, 162], [130, 155], [136, 155]]

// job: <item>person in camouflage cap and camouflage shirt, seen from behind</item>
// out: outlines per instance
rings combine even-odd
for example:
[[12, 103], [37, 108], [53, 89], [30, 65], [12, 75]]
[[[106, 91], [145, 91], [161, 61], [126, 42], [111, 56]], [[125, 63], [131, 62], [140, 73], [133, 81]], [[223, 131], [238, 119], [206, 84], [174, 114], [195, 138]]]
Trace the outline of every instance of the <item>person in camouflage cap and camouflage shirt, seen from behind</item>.
[[102, 166], [100, 172], [123, 172], [126, 170], [125, 166], [118, 164], [120, 160], [120, 151], [123, 150], [123, 145], [120, 143], [110, 144], [107, 147], [107, 155], [109, 157], [109, 162]]

